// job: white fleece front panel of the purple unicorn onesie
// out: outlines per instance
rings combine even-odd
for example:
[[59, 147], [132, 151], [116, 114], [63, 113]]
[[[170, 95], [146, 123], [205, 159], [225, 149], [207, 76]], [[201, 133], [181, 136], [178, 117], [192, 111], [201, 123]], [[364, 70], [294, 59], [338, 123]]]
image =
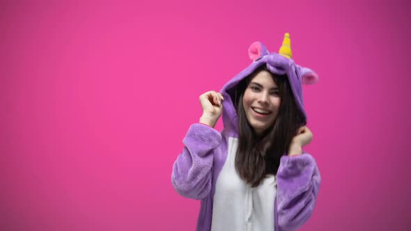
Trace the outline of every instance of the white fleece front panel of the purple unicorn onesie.
[[211, 230], [274, 230], [276, 177], [270, 175], [251, 188], [235, 170], [237, 146], [237, 138], [228, 139], [228, 156], [215, 186]]

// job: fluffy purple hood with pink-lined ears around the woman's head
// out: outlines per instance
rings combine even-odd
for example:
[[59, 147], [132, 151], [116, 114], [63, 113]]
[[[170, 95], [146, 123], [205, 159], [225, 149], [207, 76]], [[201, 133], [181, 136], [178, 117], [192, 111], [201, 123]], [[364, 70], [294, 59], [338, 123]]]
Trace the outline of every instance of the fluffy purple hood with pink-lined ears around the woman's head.
[[[289, 35], [288, 35], [289, 36]], [[288, 38], [289, 40], [289, 38]], [[284, 42], [283, 42], [284, 45]], [[290, 48], [288, 48], [290, 50]], [[233, 99], [229, 93], [233, 93], [238, 87], [238, 83], [249, 76], [254, 70], [262, 65], [266, 65], [272, 74], [284, 75], [288, 77], [293, 95], [298, 108], [304, 115], [307, 122], [307, 113], [304, 110], [302, 99], [302, 84], [313, 84], [318, 81], [318, 75], [307, 67], [297, 65], [293, 59], [287, 58], [284, 54], [270, 53], [261, 42], [254, 42], [249, 47], [249, 57], [253, 61], [245, 70], [242, 70], [233, 79], [226, 83], [220, 91], [224, 95], [223, 101], [223, 123], [224, 130], [232, 136], [238, 134], [238, 117], [233, 104]], [[291, 52], [291, 51], [289, 51]], [[289, 54], [291, 56], [291, 54]], [[305, 123], [304, 122], [304, 123]]]

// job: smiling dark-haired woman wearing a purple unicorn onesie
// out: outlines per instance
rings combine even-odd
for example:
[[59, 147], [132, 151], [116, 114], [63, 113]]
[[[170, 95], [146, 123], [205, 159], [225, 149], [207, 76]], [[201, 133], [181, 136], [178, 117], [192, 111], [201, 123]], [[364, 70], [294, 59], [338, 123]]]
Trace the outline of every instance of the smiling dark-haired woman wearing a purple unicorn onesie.
[[249, 56], [221, 93], [200, 96], [203, 115], [173, 165], [176, 191], [201, 200], [197, 230], [296, 230], [316, 203], [320, 173], [302, 152], [312, 140], [302, 83], [318, 76], [291, 59], [288, 33], [279, 54], [254, 42]]

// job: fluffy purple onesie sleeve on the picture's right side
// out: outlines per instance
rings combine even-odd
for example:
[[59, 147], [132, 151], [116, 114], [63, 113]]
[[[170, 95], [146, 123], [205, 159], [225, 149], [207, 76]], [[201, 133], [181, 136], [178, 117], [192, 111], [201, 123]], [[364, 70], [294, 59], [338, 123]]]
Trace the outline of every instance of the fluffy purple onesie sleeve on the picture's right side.
[[320, 172], [310, 154], [281, 157], [277, 172], [277, 214], [279, 231], [297, 230], [306, 223], [316, 204]]

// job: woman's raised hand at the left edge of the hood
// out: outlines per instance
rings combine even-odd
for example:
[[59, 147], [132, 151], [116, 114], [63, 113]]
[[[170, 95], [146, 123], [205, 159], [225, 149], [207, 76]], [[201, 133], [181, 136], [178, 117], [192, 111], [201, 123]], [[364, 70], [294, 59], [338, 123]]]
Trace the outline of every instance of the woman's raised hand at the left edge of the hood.
[[222, 100], [224, 97], [221, 93], [210, 90], [199, 97], [201, 108], [203, 108], [203, 116], [200, 122], [210, 127], [214, 127], [218, 118], [222, 115]]

